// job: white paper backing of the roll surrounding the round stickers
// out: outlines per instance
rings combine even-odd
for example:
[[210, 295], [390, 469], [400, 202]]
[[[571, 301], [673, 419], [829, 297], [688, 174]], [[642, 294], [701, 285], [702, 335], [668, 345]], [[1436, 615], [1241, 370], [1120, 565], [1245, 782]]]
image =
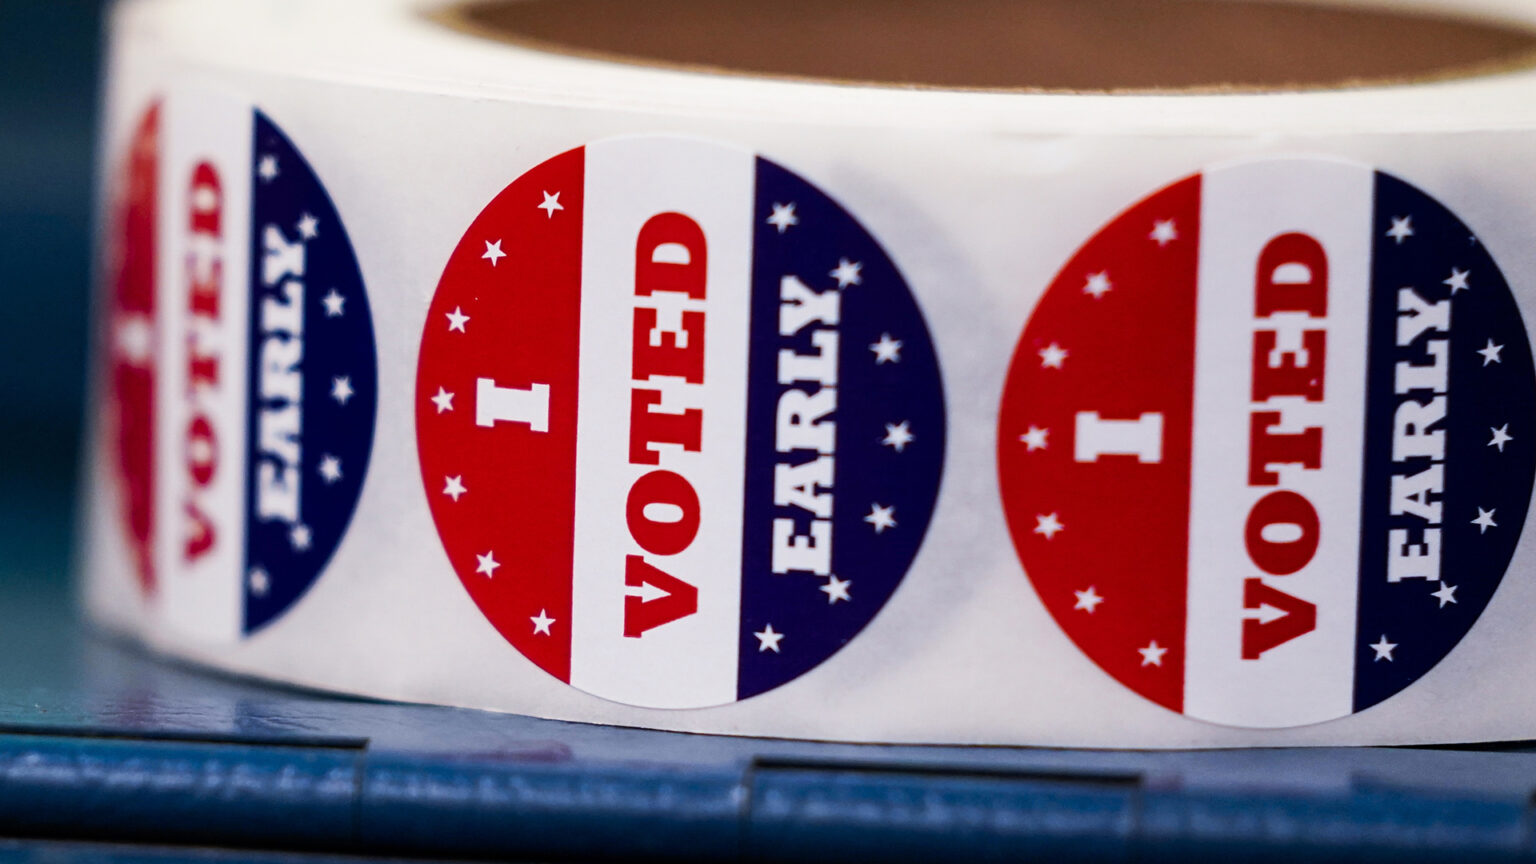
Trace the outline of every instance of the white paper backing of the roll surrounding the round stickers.
[[[120, 547], [100, 421], [81, 558], [89, 615], [166, 653], [369, 696], [607, 724], [848, 741], [1091, 747], [1409, 744], [1536, 735], [1536, 532], [1439, 666], [1359, 715], [1238, 729], [1164, 710], [1046, 613], [997, 492], [997, 404], [1055, 271], [1123, 208], [1255, 155], [1327, 155], [1409, 178], [1464, 218], [1536, 303], [1536, 72], [1309, 94], [895, 91], [631, 68], [488, 43], [410, 0], [137, 2], [118, 8], [101, 175], [155, 94], [195, 83], [260, 106], [343, 214], [379, 351], [370, 477], [329, 572], [246, 641], [157, 624]], [[1527, 3], [1459, 11], [1536, 22]], [[938, 351], [949, 444], [926, 541], [846, 649], [770, 693], [637, 709], [545, 675], [484, 620], [442, 553], [416, 467], [413, 384], [442, 266], [475, 214], [545, 158], [625, 134], [719, 140], [811, 178], [897, 263]], [[100, 387], [100, 384], [98, 384]]]

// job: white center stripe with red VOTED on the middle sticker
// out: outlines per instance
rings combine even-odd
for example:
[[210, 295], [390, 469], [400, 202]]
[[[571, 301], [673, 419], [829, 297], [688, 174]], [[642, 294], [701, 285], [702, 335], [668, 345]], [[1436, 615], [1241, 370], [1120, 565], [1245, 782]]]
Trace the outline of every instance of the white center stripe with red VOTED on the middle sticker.
[[[742, 464], [719, 454], [739, 454], [743, 437], [746, 378], [746, 307], [737, 297], [751, 278], [751, 154], [708, 145], [668, 146], [671, 141], [614, 141], [587, 148], [587, 221], [582, 231], [582, 372], [578, 407], [576, 563], [571, 603], [571, 684], [622, 701], [657, 707], [717, 704], [736, 698], [736, 643], [739, 638]], [[679, 183], [677, 177], [687, 177]], [[642, 291], [636, 260], [694, 266], [693, 249], [670, 235], [636, 246], [641, 229], [657, 214], [687, 214], [705, 241], [703, 300], [679, 292]], [[630, 317], [613, 307], [654, 309], [657, 326], [639, 334], [650, 344], [691, 338], [684, 315], [702, 312], [707, 375], [702, 384], [667, 375], [634, 380]], [[598, 326], [593, 326], [598, 324]], [[659, 467], [682, 477], [699, 498], [696, 540], [676, 555], [650, 557], [674, 577], [699, 589], [699, 609], [687, 620], [636, 640], [625, 636], [624, 570], [613, 561], [647, 555], [616, 532], [627, 500], [648, 470], [630, 463], [628, 441], [610, 430], [630, 429], [630, 394], [637, 386], [660, 394], [662, 414], [699, 410], [702, 427], [693, 452], [679, 444], [653, 444]], [[607, 447], [579, 441], [613, 440]], [[617, 444], [625, 446], [617, 446]], [[723, 463], [723, 464], [722, 464]], [[734, 463], [734, 464], [733, 464]], [[674, 504], [645, 504], [676, 509]], [[645, 513], [650, 517], [650, 513]], [[671, 521], [682, 518], [657, 513]], [[628, 543], [625, 543], [628, 540]], [[644, 595], [642, 595], [644, 596]], [[645, 598], [650, 600], [650, 598]], [[627, 698], [628, 696], [628, 698]]]

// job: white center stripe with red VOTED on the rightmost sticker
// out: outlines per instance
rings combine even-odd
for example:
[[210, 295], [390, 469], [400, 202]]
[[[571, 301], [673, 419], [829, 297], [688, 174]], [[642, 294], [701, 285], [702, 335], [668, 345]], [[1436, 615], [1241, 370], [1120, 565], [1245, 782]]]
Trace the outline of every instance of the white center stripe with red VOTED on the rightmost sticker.
[[[1203, 177], [1184, 693], [1184, 710], [1195, 716], [1296, 726], [1350, 712], [1352, 669], [1336, 660], [1352, 653], [1356, 583], [1339, 573], [1353, 572], [1359, 558], [1372, 181], [1369, 169], [1327, 161], [1233, 166]], [[1255, 208], [1255, 201], [1263, 204]], [[1327, 261], [1326, 315], [1260, 318], [1252, 286], [1261, 255], [1276, 237], [1292, 234], [1299, 235], [1298, 246], [1312, 249], [1316, 243], [1313, 261]], [[1281, 266], [1289, 268], [1281, 280], [1315, 275], [1306, 263]], [[1321, 346], [1322, 357], [1309, 357], [1309, 344]], [[1264, 394], [1255, 394], [1253, 381], [1286, 364], [1322, 372], [1319, 401], [1258, 398]], [[1260, 441], [1318, 429], [1321, 469], [1307, 470], [1289, 454], [1270, 461], [1253, 446], [1255, 429], [1264, 435]], [[1273, 474], [1275, 480], [1253, 474]], [[1284, 575], [1258, 569], [1246, 543], [1250, 513], [1273, 492], [1287, 498], [1270, 501], [1306, 498], [1318, 523], [1327, 526], [1316, 552]], [[1299, 535], [1303, 527], [1289, 518], [1276, 518], [1263, 532], [1276, 540]], [[1244, 644], [1244, 621], [1283, 612], [1263, 604], [1247, 609], [1244, 587], [1252, 577], [1316, 609], [1315, 632], [1296, 650], [1260, 653], [1263, 646]], [[1250, 658], [1253, 653], [1258, 656]]]

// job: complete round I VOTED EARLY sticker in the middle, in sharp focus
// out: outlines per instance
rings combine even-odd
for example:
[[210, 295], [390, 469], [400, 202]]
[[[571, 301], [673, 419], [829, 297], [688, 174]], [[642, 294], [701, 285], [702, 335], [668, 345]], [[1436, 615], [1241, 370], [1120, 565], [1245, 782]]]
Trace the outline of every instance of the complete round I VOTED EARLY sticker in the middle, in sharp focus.
[[421, 475], [455, 572], [528, 660], [696, 707], [852, 640], [945, 452], [922, 314], [828, 195], [750, 152], [561, 154], [475, 220], [427, 312]]

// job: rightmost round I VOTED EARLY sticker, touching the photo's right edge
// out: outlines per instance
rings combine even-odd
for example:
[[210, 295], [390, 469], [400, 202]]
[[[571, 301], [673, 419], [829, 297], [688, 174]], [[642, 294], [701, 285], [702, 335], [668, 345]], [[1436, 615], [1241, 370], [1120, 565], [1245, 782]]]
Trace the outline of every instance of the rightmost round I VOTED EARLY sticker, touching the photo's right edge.
[[1498, 589], [1536, 472], [1521, 312], [1478, 237], [1346, 161], [1175, 183], [1083, 246], [998, 421], [1025, 570], [1143, 696], [1279, 727], [1364, 710]]

